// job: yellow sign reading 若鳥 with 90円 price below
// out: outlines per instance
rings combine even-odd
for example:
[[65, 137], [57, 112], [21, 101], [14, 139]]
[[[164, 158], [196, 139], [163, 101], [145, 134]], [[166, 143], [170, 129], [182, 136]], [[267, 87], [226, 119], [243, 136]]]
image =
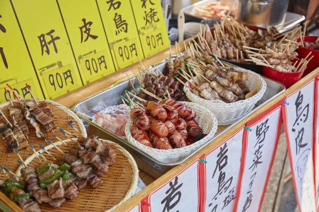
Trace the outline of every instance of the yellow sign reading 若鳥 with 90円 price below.
[[144, 58], [130, 0], [97, 0], [114, 64], [123, 69]]

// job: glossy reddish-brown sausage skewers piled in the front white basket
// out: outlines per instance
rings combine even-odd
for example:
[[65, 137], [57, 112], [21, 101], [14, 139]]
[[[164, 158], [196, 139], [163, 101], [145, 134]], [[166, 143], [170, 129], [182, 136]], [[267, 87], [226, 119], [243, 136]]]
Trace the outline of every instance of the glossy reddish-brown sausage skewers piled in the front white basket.
[[[201, 140], [205, 135], [195, 121], [196, 113], [187, 105], [173, 99], [161, 99], [147, 90], [143, 92], [158, 99], [146, 101], [126, 91], [130, 102], [132, 137], [146, 146], [158, 149], [181, 148]], [[129, 94], [139, 101], [133, 101]], [[169, 96], [169, 94], [167, 93]], [[121, 97], [125, 103], [125, 98]]]

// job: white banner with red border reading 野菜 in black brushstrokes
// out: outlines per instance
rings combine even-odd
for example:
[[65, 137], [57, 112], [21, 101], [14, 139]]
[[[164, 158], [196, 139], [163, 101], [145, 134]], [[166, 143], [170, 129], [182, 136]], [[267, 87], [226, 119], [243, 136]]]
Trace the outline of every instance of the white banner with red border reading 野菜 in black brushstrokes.
[[281, 127], [281, 103], [247, 123], [236, 212], [258, 212], [276, 153]]

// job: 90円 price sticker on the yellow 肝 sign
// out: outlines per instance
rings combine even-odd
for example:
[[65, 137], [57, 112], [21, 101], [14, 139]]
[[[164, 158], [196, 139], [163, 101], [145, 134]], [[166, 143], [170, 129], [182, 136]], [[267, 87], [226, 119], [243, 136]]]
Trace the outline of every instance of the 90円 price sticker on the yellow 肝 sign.
[[42, 73], [44, 86], [50, 99], [56, 98], [60, 93], [67, 93], [79, 85], [75, 79], [72, 64]]

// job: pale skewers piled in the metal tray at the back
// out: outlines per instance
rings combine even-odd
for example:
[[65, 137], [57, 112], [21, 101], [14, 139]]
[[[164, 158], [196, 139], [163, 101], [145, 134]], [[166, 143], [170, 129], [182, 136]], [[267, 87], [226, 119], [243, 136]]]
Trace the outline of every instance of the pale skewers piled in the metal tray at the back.
[[210, 2], [202, 6], [197, 6], [195, 15], [203, 18], [224, 18], [229, 11], [229, 6], [222, 5], [220, 1]]

